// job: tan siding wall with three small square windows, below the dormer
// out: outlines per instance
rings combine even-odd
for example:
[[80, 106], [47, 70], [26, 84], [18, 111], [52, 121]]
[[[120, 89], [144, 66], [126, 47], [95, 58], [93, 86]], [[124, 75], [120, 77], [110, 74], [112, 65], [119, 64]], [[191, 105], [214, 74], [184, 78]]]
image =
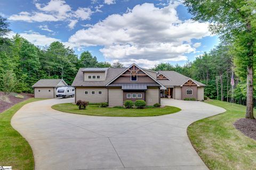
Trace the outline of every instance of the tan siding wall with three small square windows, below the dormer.
[[[87, 91], [88, 94], [84, 94]], [[94, 91], [95, 94], [91, 92]], [[98, 94], [101, 91], [102, 94]], [[108, 89], [105, 87], [76, 87], [76, 101], [83, 100], [90, 103], [108, 102]]]

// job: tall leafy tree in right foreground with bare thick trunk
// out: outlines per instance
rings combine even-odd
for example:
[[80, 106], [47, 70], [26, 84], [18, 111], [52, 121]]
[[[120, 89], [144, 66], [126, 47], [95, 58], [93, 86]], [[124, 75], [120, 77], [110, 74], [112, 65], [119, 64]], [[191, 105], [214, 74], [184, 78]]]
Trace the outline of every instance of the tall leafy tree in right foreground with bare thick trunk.
[[[219, 0], [185, 0], [188, 11], [193, 14], [194, 20], [210, 22], [210, 30], [222, 38], [234, 43], [235, 60], [243, 60], [243, 64], [236, 67], [246, 67], [247, 94], [245, 118], [253, 117], [253, 64], [256, 50], [256, 2], [247, 1], [219, 1]], [[237, 62], [235, 62], [237, 63]]]

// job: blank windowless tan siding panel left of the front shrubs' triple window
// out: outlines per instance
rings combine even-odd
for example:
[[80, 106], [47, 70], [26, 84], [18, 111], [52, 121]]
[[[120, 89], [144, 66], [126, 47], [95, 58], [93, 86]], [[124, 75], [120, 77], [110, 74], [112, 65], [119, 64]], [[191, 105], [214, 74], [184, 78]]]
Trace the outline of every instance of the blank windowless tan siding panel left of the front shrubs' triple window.
[[123, 91], [121, 88], [108, 89], [109, 106], [123, 106]]

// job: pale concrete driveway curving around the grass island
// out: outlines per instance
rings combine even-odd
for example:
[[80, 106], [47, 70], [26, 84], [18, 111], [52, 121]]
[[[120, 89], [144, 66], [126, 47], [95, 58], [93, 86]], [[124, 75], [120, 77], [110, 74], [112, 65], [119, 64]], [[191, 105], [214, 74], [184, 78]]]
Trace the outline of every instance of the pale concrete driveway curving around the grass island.
[[28, 103], [12, 126], [31, 145], [36, 169], [207, 169], [192, 147], [187, 127], [225, 109], [203, 102], [162, 100], [182, 111], [155, 117], [96, 117], [66, 114], [53, 104]]

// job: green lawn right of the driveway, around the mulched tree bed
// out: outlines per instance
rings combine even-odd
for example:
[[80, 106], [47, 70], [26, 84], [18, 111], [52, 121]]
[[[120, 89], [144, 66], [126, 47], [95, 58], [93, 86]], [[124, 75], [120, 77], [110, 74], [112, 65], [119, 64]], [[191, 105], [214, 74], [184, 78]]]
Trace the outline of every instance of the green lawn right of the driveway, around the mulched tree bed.
[[246, 108], [214, 100], [206, 103], [227, 110], [188, 127], [189, 139], [206, 166], [210, 169], [256, 169], [256, 141], [233, 125], [237, 119], [244, 118]]

